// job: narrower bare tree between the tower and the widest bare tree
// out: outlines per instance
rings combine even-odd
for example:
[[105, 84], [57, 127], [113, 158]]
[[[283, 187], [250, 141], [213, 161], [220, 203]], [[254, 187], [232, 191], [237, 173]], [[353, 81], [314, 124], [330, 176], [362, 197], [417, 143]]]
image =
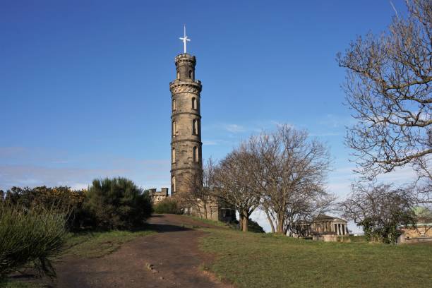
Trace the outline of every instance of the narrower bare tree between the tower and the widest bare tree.
[[240, 217], [240, 228], [248, 231], [248, 220], [260, 204], [260, 190], [253, 179], [253, 155], [247, 145], [230, 152], [216, 169], [219, 195], [232, 205]]

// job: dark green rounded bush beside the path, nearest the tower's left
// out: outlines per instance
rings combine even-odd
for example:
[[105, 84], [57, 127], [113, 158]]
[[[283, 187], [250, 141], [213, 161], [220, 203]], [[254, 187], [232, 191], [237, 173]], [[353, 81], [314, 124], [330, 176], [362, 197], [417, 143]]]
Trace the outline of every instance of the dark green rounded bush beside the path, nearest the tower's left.
[[138, 227], [152, 213], [148, 193], [121, 177], [93, 180], [83, 208], [94, 217], [95, 227], [102, 229]]

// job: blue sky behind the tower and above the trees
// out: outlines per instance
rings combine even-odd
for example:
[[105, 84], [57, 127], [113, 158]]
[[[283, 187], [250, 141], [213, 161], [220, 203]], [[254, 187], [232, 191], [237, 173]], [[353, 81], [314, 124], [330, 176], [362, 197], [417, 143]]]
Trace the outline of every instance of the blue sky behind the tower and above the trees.
[[203, 157], [277, 124], [306, 128], [330, 146], [328, 187], [343, 198], [354, 122], [335, 55], [394, 15], [387, 0], [1, 1], [0, 189], [104, 176], [169, 187], [169, 82], [185, 23], [203, 82]]

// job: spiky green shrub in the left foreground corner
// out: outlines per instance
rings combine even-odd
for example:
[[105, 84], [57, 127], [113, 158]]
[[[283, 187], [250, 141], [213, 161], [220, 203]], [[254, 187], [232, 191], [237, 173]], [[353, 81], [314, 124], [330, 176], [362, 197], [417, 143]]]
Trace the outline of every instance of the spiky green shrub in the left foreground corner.
[[0, 279], [26, 265], [55, 277], [51, 260], [66, 241], [65, 215], [0, 203]]

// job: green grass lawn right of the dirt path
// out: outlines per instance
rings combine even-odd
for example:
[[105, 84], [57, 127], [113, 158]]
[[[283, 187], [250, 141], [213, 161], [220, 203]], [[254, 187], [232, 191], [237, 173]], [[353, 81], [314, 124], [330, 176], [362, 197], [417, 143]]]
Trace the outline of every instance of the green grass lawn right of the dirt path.
[[432, 245], [336, 243], [205, 229], [210, 269], [238, 287], [432, 287]]

